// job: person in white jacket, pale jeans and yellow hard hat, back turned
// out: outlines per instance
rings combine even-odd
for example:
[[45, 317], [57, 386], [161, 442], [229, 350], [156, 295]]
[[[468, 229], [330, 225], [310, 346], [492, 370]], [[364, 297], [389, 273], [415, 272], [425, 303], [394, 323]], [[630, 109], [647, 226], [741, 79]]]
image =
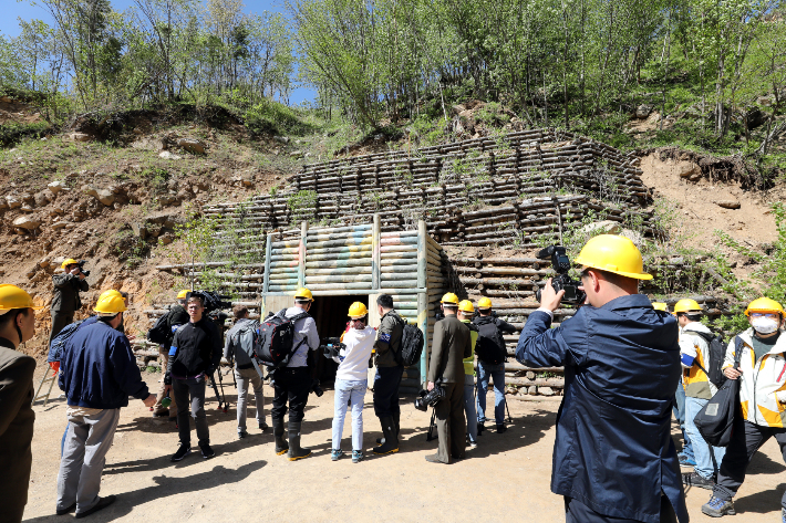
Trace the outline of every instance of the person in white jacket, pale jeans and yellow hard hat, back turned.
[[376, 331], [366, 325], [368, 315], [364, 304], [355, 302], [350, 306], [350, 327], [342, 339], [345, 347], [333, 356], [339, 363], [334, 387], [333, 449], [330, 453], [333, 461], [343, 456], [341, 435], [348, 402], [352, 406], [352, 462], [363, 459], [363, 399], [368, 386], [369, 359], [376, 339]]

